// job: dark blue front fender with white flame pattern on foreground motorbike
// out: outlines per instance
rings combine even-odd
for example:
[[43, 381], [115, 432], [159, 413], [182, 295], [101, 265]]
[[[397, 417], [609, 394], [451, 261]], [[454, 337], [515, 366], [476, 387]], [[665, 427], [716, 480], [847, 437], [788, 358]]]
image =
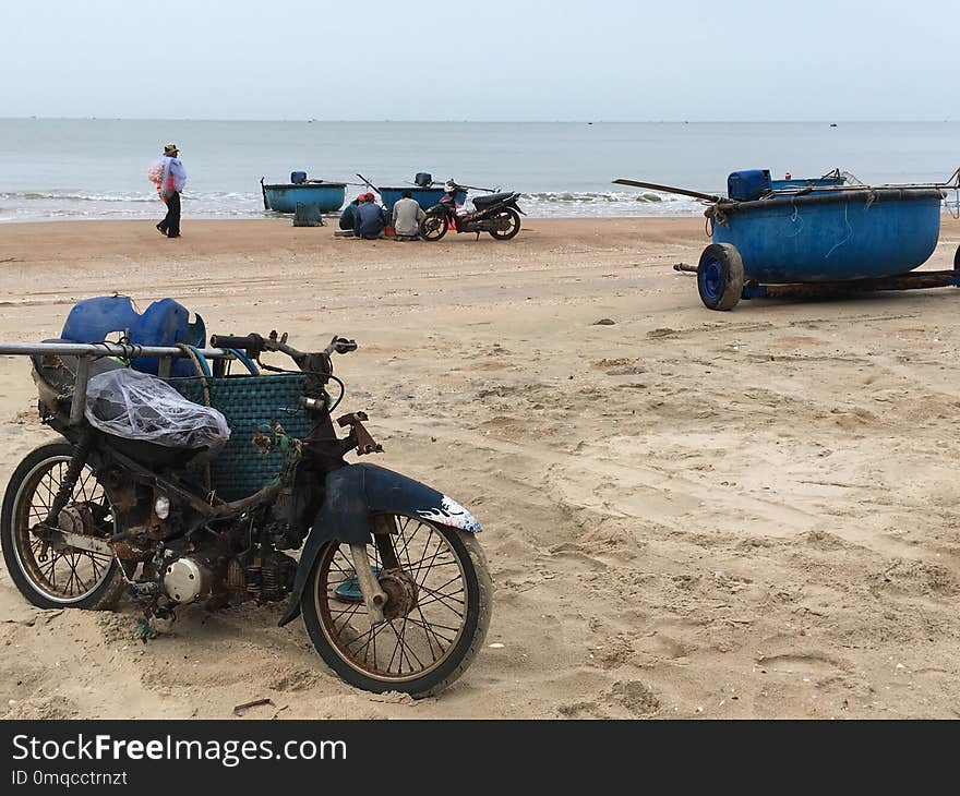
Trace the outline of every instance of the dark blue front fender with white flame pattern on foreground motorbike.
[[300, 614], [300, 596], [323, 546], [332, 540], [369, 544], [370, 515], [381, 511], [422, 517], [469, 533], [481, 530], [473, 515], [459, 503], [398, 472], [376, 465], [348, 465], [334, 470], [326, 477], [323, 506], [303, 545], [280, 627]]

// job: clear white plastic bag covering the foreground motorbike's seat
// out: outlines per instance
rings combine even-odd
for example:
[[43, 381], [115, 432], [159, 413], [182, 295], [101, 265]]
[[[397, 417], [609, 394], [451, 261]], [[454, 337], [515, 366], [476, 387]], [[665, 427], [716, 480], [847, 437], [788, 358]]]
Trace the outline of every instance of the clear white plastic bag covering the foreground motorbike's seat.
[[86, 419], [91, 425], [123, 439], [172, 448], [217, 451], [230, 438], [224, 415], [181, 396], [163, 379], [129, 369], [89, 379]]

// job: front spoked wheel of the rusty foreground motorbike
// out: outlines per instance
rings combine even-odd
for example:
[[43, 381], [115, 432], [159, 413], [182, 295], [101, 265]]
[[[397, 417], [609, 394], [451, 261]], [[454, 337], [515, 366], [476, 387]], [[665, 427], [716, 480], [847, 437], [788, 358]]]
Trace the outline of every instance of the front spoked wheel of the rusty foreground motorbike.
[[[347, 544], [321, 551], [301, 607], [323, 660], [368, 691], [436, 694], [470, 665], [490, 624], [492, 586], [471, 533], [405, 515], [377, 515], [367, 555], [387, 595], [370, 627]], [[385, 532], [388, 531], [388, 532]]]

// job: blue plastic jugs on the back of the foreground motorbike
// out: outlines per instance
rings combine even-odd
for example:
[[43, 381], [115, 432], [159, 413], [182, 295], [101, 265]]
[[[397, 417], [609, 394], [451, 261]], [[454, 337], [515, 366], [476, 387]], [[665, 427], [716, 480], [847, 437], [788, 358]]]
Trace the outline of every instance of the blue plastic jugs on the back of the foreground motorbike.
[[[137, 346], [185, 342], [202, 348], [206, 341], [203, 318], [197, 315], [191, 324], [190, 312], [173, 299], [155, 301], [141, 314], [134, 310], [129, 296], [99, 296], [77, 302], [67, 316], [60, 337], [72, 342], [100, 342], [115, 331], [125, 334], [130, 342]], [[156, 357], [137, 357], [131, 366], [156, 374], [159, 361]], [[193, 363], [176, 360], [170, 374], [192, 376]]]

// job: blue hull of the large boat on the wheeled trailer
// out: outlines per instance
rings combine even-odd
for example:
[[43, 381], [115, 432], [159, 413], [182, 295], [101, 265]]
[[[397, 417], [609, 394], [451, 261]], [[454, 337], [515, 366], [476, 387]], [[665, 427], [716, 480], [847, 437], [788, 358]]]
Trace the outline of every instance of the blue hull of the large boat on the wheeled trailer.
[[718, 205], [715, 243], [730, 243], [746, 282], [868, 279], [905, 274], [933, 254], [943, 195], [877, 188]]

